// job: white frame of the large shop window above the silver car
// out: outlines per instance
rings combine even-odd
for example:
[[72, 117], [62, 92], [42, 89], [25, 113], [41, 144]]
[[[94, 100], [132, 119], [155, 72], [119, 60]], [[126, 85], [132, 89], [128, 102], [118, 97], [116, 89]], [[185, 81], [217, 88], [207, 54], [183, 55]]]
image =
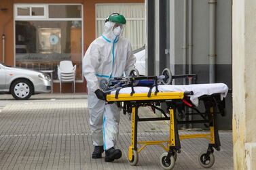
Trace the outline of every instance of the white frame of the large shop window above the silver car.
[[[81, 5], [81, 18], [49, 18], [49, 5]], [[30, 16], [18, 16], [18, 7], [29, 7]], [[32, 7], [44, 7], [44, 16], [32, 16]], [[16, 67], [16, 21], [81, 21], [81, 64], [84, 57], [84, 5], [82, 3], [14, 3], [14, 66]], [[75, 83], [84, 82], [84, 72], [81, 67], [81, 79]], [[59, 83], [59, 80], [54, 80], [54, 83]]]

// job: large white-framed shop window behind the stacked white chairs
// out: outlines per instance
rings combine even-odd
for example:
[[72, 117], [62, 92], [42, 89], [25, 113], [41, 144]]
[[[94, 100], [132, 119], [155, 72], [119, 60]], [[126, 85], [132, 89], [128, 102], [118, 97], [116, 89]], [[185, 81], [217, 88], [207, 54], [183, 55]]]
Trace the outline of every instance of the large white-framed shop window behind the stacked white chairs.
[[71, 60], [77, 65], [76, 79], [83, 80], [81, 9], [81, 5], [16, 5], [16, 66], [54, 70], [57, 80], [60, 61]]

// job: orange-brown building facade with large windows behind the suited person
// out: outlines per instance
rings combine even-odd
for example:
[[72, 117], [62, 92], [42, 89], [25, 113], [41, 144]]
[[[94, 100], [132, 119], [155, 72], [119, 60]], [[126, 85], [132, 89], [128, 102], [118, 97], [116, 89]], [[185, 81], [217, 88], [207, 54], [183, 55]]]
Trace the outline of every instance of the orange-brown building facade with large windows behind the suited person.
[[[71, 60], [76, 68], [76, 92], [86, 92], [81, 60], [105, 19], [117, 12], [127, 18], [124, 36], [133, 49], [145, 44], [145, 5], [141, 0], [2, 0], [0, 1], [0, 61], [33, 70], [53, 70], [54, 93], [59, 92], [57, 66]], [[62, 91], [71, 92], [71, 83]]]

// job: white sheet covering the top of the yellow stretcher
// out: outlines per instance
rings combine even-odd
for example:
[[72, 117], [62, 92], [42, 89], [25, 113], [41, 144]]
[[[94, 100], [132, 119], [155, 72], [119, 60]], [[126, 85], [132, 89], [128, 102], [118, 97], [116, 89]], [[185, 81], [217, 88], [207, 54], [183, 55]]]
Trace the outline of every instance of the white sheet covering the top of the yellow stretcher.
[[[195, 84], [195, 85], [158, 85], [160, 92], [173, 92], [173, 91], [193, 91], [194, 95], [189, 95], [191, 102], [198, 106], [198, 98], [202, 95], [212, 95], [219, 93], [221, 100], [227, 95], [228, 87], [224, 83], [211, 83], [211, 84]], [[134, 87], [135, 93], [148, 93], [149, 87]], [[156, 87], [153, 87], [152, 92], [156, 91]], [[131, 93], [131, 87], [125, 87], [120, 90], [122, 93]], [[111, 94], [115, 94], [115, 91], [111, 91]]]

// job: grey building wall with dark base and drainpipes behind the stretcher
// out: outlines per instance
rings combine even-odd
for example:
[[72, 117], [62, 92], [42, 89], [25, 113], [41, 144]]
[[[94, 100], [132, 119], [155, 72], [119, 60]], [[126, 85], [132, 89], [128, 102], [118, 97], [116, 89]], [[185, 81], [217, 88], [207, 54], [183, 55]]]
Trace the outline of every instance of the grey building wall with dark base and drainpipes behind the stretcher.
[[[148, 75], [160, 75], [167, 67], [172, 75], [196, 74], [196, 83], [225, 83], [232, 88], [232, 0], [147, 0], [145, 4]], [[225, 117], [218, 115], [220, 129], [232, 129], [231, 93], [226, 110]]]

